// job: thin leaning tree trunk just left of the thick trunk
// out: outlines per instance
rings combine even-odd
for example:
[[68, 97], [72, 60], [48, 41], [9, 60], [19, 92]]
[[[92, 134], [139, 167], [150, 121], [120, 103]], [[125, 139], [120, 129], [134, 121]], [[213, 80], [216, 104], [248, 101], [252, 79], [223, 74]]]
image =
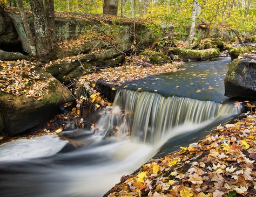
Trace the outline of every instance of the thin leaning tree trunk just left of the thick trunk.
[[26, 36], [28, 36], [28, 39], [29, 39], [31, 53], [32, 53], [32, 55], [36, 55], [35, 38], [33, 37], [33, 34], [31, 32], [31, 29], [30, 29], [30, 26], [29, 26], [29, 20], [26, 17], [22, 0], [17, 0], [17, 4], [19, 6], [19, 12], [21, 13], [21, 17], [22, 17], [22, 20], [23, 20]]

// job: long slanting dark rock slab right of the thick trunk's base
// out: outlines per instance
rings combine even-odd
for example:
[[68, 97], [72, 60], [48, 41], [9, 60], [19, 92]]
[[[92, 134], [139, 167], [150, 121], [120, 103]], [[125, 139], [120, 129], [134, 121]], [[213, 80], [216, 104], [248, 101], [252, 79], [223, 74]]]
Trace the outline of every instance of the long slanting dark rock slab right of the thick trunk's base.
[[60, 82], [70, 82], [83, 75], [88, 68], [104, 68], [120, 65], [124, 61], [122, 53], [115, 48], [110, 48], [98, 53], [90, 53], [82, 56], [65, 58], [62, 61], [53, 61], [46, 65], [46, 71], [55, 76]]

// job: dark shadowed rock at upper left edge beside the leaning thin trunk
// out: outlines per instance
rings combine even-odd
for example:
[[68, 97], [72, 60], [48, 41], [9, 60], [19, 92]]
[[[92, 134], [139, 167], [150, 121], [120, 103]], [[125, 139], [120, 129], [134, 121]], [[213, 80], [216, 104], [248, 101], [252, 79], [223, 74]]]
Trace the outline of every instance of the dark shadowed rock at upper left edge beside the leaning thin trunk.
[[0, 7], [0, 47], [5, 48], [7, 45], [18, 45], [18, 34], [8, 13]]

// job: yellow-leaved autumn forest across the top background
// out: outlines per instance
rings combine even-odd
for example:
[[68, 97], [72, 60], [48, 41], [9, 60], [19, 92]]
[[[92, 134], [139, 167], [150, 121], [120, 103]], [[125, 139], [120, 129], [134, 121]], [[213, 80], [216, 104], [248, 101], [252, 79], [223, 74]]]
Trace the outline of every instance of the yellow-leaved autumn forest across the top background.
[[[17, 6], [15, 0], [4, 0], [9, 6]], [[147, 19], [156, 24], [173, 27], [180, 39], [188, 36], [192, 12], [196, 26], [218, 29], [236, 29], [241, 32], [255, 31], [255, 0], [55, 0], [55, 11], [102, 14], [104, 3], [115, 7], [117, 15]], [[23, 0], [25, 8], [29, 1]], [[116, 15], [113, 13], [113, 15]], [[174, 35], [175, 36], [175, 35]], [[194, 39], [197, 39], [197, 34]]]

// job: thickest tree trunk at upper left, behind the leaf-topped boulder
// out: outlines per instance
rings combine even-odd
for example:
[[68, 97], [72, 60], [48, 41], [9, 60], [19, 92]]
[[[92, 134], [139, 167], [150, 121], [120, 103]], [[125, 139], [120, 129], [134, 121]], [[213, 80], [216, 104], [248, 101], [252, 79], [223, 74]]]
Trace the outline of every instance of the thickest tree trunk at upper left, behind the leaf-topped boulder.
[[53, 36], [53, 31], [46, 17], [43, 1], [30, 0], [30, 6], [36, 34], [36, 58], [42, 62], [55, 59], [57, 54], [55, 52], [55, 36]]

